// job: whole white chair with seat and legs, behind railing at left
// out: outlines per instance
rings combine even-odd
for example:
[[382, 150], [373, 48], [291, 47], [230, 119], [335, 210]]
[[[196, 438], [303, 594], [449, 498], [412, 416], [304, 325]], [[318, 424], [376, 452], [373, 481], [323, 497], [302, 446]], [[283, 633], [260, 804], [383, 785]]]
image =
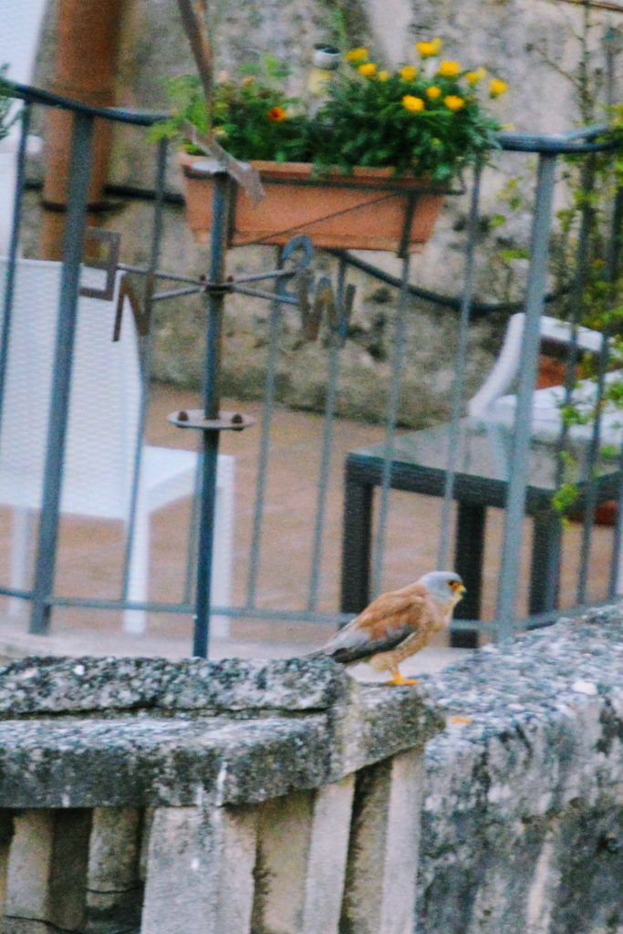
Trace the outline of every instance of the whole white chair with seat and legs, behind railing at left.
[[[10, 581], [28, 587], [32, 556], [29, 532], [40, 508], [57, 308], [62, 264], [19, 260], [11, 318], [5, 402], [0, 432], [0, 504], [15, 511]], [[0, 260], [0, 295], [7, 260]], [[96, 270], [82, 283], [99, 284]], [[135, 449], [138, 443], [141, 374], [134, 321], [124, 309], [120, 341], [113, 343], [120, 275], [111, 301], [80, 297], [74, 348], [70, 413], [61, 496], [63, 513], [127, 523], [130, 516]], [[125, 300], [127, 302], [127, 299]], [[172, 428], [172, 431], [175, 431]], [[170, 502], [191, 496], [197, 472], [194, 451], [143, 446], [128, 598], [148, 596], [149, 517]], [[234, 458], [219, 456], [213, 561], [213, 601], [231, 599]], [[23, 601], [15, 603], [24, 605]], [[226, 634], [227, 617], [213, 617]], [[140, 633], [145, 613], [128, 610], [124, 629]]]

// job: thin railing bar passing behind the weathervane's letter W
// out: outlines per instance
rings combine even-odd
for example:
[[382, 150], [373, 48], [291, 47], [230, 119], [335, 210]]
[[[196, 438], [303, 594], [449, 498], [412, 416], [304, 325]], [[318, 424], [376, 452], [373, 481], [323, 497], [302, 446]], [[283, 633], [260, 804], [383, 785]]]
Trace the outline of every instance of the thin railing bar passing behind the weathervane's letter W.
[[[338, 309], [338, 319], [341, 318], [341, 312], [344, 311], [346, 270], [346, 260], [343, 256], [341, 256], [338, 265], [337, 294], [335, 297], [335, 303]], [[309, 597], [307, 600], [307, 609], [312, 613], [318, 607], [320, 565], [322, 561], [322, 532], [324, 531], [324, 517], [327, 505], [329, 474], [331, 470], [333, 419], [335, 417], [337, 380], [341, 361], [341, 336], [342, 335], [338, 333], [332, 334], [331, 346], [329, 347], [329, 375], [327, 383], [327, 394], [324, 403], [324, 423], [322, 426], [322, 453], [320, 456], [318, 501], [316, 505], [314, 544], [312, 546], [311, 573], [309, 575]]]

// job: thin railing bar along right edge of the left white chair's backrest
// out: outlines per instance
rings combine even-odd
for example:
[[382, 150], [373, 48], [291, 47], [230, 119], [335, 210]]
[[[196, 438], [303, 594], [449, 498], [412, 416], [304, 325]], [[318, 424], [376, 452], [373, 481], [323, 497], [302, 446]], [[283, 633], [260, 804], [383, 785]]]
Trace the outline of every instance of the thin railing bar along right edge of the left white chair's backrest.
[[[144, 314], [148, 316], [149, 321], [151, 318], [154, 274], [158, 269], [158, 263], [160, 261], [160, 247], [163, 236], [163, 194], [164, 175], [166, 172], [167, 146], [167, 140], [162, 139], [158, 145], [158, 159], [156, 164], [156, 189], [153, 208], [151, 250], [149, 254], [145, 290], [143, 293]], [[130, 326], [130, 322], [126, 322], [126, 327]], [[153, 333], [151, 327], [149, 326], [149, 333], [145, 340], [145, 353], [141, 360], [141, 401], [138, 415], [138, 426], [136, 431], [135, 460], [132, 469], [132, 490], [130, 493], [130, 511], [128, 515], [128, 531], [126, 535], [125, 559], [123, 563], [123, 583], [121, 591], [121, 599], [123, 601], [126, 601], [128, 598], [128, 587], [130, 583], [130, 560], [132, 558], [132, 548], [135, 541], [136, 508], [138, 505], [141, 464], [143, 461], [143, 446], [145, 443], [145, 427], [147, 424], [147, 411], [149, 406], [149, 372], [151, 368], [152, 347]]]

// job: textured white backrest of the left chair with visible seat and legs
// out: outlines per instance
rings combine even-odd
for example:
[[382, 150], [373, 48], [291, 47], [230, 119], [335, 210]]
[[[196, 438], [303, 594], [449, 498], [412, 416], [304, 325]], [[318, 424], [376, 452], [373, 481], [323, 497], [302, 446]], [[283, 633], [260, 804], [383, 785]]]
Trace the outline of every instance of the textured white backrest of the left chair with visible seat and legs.
[[[19, 260], [0, 429], [0, 502], [38, 508], [45, 469], [62, 263]], [[7, 261], [0, 260], [0, 295]], [[83, 270], [82, 281], [101, 276]], [[80, 297], [65, 448], [62, 509], [126, 517], [138, 443], [141, 375], [134, 321], [124, 309], [112, 342], [112, 300]]]

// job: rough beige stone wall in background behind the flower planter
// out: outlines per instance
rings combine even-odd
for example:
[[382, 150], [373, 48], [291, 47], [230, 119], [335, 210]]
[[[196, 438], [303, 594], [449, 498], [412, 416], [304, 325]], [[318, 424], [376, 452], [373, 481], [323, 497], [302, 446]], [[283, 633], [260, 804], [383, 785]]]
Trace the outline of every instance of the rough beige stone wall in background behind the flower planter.
[[[292, 67], [292, 91], [304, 90], [310, 49], [318, 38], [335, 38], [335, 12], [341, 12], [353, 44], [366, 43], [379, 58], [393, 63], [407, 58], [413, 42], [422, 35], [442, 35], [446, 53], [464, 63], [485, 64], [493, 74], [507, 78], [510, 93], [496, 107], [503, 120], [518, 130], [554, 132], [576, 121], [573, 88], [560, 72], [573, 70], [578, 42], [573, 35], [581, 11], [548, 0], [468, 0], [455, 3], [411, 0], [245, 0], [232, 6], [212, 5], [218, 12], [219, 67], [257, 58], [271, 52]], [[41, 45], [35, 81], [50, 83], [53, 62], [56, 0], [50, 9]], [[617, 23], [616, 15], [600, 14], [602, 23]], [[603, 25], [593, 33], [597, 59], [601, 57]], [[551, 60], [545, 64], [544, 56]], [[118, 101], [120, 105], [161, 109], [166, 104], [163, 82], [167, 77], [192, 70], [188, 43], [182, 33], [172, 0], [128, 0], [122, 24]], [[478, 297], [497, 301], [520, 297], [525, 281], [525, 261], [513, 264], [510, 284], [502, 275], [502, 248], [525, 246], [530, 230], [530, 211], [521, 210], [502, 230], [491, 228], [490, 219], [501, 210], [497, 193], [504, 181], [526, 170], [525, 157], [501, 155], [497, 168], [487, 174], [483, 219], [479, 233], [476, 290]], [[153, 179], [153, 148], [144, 134], [118, 130], [110, 180], [121, 185], [149, 185]], [[40, 171], [33, 168], [33, 173]], [[525, 188], [530, 195], [532, 169]], [[168, 187], [177, 190], [172, 162]], [[412, 278], [418, 285], [456, 296], [463, 271], [463, 233], [466, 199], [448, 199], [432, 243], [416, 258]], [[99, 219], [120, 230], [126, 262], [144, 262], [149, 255], [149, 214], [145, 205], [130, 202]], [[30, 220], [34, 239], [39, 219]], [[35, 248], [34, 248], [35, 249]], [[233, 251], [230, 269], [266, 268], [273, 262], [269, 248]], [[397, 274], [395, 258], [375, 255], [374, 262]], [[187, 233], [181, 211], [167, 212], [162, 267], [191, 274], [203, 273], [205, 249], [196, 247]], [[334, 262], [322, 261], [333, 268]], [[320, 263], [321, 265], [322, 263]], [[384, 417], [393, 340], [396, 292], [379, 290], [366, 276], [355, 276], [359, 286], [353, 327], [341, 354], [338, 411], [348, 417]], [[381, 300], [378, 300], [378, 296]], [[239, 398], [261, 398], [266, 367], [267, 307], [262, 302], [230, 298], [227, 303], [224, 390]], [[503, 317], [503, 316], [502, 316]], [[407, 335], [409, 365], [404, 376], [399, 420], [422, 427], [447, 415], [454, 372], [456, 313], [444, 306], [414, 301], [409, 308]], [[502, 323], [493, 320], [474, 329], [467, 375], [468, 395], [477, 388], [499, 347]], [[196, 388], [200, 384], [204, 312], [200, 303], [185, 300], [163, 304], [156, 317], [157, 339], [153, 373], [157, 379]], [[301, 341], [298, 322], [285, 315], [280, 332], [280, 359], [276, 395], [281, 402], [314, 410], [324, 404], [327, 354], [321, 347]], [[379, 392], [379, 387], [382, 391]], [[383, 390], [383, 388], [385, 388]]]

